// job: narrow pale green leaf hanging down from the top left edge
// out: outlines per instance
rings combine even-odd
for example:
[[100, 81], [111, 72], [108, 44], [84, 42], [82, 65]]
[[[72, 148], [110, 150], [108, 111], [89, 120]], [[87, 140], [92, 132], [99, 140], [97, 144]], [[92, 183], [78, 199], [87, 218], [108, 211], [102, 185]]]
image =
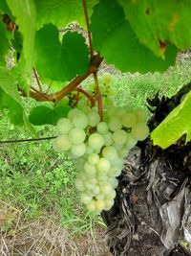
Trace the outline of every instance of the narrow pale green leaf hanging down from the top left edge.
[[32, 81], [33, 44], [35, 36], [35, 6], [33, 0], [7, 0], [16, 18], [20, 33], [23, 35], [23, 48], [19, 59], [20, 73], [25, 84]]

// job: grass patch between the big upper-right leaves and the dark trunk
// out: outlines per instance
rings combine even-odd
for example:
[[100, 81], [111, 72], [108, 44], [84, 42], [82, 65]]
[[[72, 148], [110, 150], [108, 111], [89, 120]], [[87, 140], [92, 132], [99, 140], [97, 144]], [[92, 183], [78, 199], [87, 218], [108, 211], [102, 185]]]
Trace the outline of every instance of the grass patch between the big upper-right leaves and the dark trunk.
[[147, 97], [154, 97], [159, 91], [159, 96], [171, 97], [191, 80], [191, 57], [182, 55], [175, 67], [169, 68], [164, 74], [125, 74], [117, 73], [114, 85], [117, 88], [117, 105], [145, 106]]

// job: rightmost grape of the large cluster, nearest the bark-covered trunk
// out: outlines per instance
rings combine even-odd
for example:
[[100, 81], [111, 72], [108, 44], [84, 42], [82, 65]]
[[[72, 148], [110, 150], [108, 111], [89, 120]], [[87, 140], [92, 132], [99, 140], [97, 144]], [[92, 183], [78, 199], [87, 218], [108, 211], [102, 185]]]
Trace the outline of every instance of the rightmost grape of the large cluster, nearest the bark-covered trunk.
[[139, 141], [143, 141], [148, 135], [149, 128], [146, 124], [138, 123], [132, 128], [132, 136]]

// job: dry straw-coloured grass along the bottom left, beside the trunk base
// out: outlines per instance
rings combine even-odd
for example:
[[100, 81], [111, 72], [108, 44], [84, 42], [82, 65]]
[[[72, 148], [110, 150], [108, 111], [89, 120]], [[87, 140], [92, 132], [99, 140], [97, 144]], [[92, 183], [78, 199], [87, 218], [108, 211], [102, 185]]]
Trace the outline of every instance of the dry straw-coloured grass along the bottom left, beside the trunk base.
[[[0, 255], [2, 256], [108, 256], [100, 227], [75, 235], [53, 218], [23, 223], [20, 213], [0, 202]], [[54, 218], [55, 220], [55, 218]], [[3, 228], [4, 227], [4, 228]]]

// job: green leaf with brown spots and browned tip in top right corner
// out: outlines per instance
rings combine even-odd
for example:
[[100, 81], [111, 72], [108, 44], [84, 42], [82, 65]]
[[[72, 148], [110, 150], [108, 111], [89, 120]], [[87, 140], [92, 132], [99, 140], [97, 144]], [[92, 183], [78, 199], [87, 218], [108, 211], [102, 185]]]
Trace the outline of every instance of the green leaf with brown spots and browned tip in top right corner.
[[179, 49], [191, 45], [190, 0], [118, 0], [140, 42], [163, 56], [160, 42], [172, 42]]

